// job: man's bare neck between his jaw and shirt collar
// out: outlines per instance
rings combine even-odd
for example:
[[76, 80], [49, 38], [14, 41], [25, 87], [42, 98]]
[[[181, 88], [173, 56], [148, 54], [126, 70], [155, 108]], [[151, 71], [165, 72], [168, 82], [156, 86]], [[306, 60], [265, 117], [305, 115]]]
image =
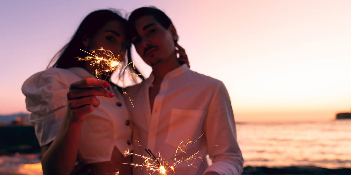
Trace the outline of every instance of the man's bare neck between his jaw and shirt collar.
[[168, 58], [165, 62], [160, 62], [152, 66], [152, 72], [155, 80], [162, 80], [168, 72], [171, 72], [179, 66], [181, 65], [176, 55], [172, 55], [171, 58]]

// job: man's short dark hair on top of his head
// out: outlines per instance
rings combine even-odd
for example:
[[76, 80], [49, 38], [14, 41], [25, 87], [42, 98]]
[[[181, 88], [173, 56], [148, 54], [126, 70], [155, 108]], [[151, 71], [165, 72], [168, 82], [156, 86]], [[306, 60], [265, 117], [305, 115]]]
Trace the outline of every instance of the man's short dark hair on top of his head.
[[168, 29], [171, 24], [172, 21], [170, 18], [168, 18], [168, 16], [160, 11], [158, 8], [154, 7], [154, 6], [150, 6], [150, 7], [141, 7], [138, 9], [135, 9], [131, 15], [128, 18], [128, 28], [129, 28], [129, 35], [130, 38], [134, 37], [134, 36], [138, 36], [138, 32], [135, 29], [135, 21], [137, 21], [139, 18], [143, 17], [143, 16], [153, 16], [153, 18], [159, 22], [165, 29]]

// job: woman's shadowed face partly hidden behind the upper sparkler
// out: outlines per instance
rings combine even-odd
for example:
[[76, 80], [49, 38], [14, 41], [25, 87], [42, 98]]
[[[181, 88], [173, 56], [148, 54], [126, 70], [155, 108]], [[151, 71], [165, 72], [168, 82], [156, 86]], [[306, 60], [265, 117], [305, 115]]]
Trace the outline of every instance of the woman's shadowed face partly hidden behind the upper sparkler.
[[[117, 21], [109, 21], [102, 28], [100, 28], [95, 35], [86, 38], [82, 41], [87, 52], [97, 51], [101, 47], [106, 51], [111, 51], [116, 57], [120, 52], [122, 45], [126, 43], [126, 32], [124, 25]], [[124, 49], [120, 55], [121, 59], [125, 58], [126, 50]], [[91, 68], [88, 68], [91, 69]]]

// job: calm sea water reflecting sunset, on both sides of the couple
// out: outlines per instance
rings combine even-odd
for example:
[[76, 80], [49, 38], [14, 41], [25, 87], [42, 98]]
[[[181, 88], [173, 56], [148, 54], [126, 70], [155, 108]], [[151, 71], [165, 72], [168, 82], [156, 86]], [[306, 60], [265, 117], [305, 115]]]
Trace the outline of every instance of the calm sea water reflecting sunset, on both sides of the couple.
[[[244, 166], [351, 168], [351, 120], [238, 123]], [[40, 175], [38, 154], [0, 156], [2, 174]]]

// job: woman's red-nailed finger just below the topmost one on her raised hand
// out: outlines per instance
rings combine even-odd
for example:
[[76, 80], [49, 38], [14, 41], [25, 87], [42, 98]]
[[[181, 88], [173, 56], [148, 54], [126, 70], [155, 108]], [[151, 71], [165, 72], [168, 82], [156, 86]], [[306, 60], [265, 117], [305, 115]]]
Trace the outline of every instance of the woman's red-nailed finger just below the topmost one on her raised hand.
[[81, 89], [71, 89], [67, 93], [68, 99], [77, 99], [85, 96], [105, 96], [111, 98], [114, 96], [109, 90], [100, 87], [87, 87]]

